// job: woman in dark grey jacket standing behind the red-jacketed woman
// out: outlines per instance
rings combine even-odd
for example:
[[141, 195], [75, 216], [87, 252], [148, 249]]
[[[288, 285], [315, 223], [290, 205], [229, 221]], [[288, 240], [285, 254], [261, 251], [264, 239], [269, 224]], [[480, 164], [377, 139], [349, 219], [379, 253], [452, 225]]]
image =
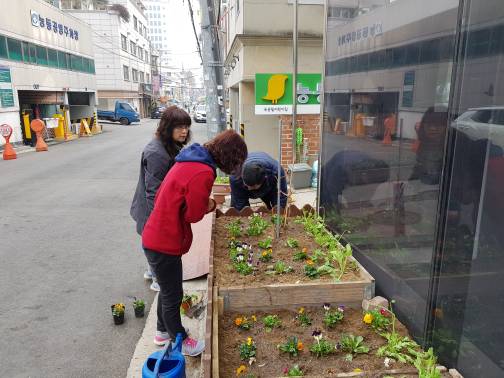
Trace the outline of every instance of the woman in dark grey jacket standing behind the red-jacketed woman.
[[[171, 106], [161, 116], [156, 136], [142, 152], [140, 177], [131, 204], [130, 214], [136, 222], [138, 235], [142, 236], [145, 222], [154, 208], [154, 198], [166, 174], [175, 164], [175, 157], [190, 138], [191, 117], [187, 112]], [[159, 291], [156, 276], [148, 265], [144, 278], [152, 280], [151, 289]]]

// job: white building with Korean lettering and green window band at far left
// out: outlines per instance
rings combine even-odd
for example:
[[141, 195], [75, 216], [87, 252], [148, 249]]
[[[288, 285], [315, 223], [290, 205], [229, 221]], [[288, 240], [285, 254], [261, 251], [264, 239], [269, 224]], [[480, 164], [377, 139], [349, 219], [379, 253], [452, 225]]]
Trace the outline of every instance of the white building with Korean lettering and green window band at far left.
[[[0, 123], [11, 142], [31, 142], [34, 118], [93, 117], [96, 75], [91, 28], [44, 1], [14, 2], [0, 15]], [[0, 141], [4, 143], [4, 140]]]

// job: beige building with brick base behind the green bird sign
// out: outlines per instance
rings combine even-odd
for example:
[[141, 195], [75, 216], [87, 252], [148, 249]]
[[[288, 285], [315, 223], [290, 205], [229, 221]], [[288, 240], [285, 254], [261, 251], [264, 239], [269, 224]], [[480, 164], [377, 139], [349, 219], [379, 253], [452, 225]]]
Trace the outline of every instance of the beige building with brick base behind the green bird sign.
[[[359, 11], [365, 12], [385, 0], [341, 0], [333, 19], [348, 22]], [[359, 4], [365, 3], [365, 8]], [[282, 124], [282, 164], [293, 161], [291, 116], [259, 115], [256, 103], [255, 75], [258, 73], [287, 74], [293, 71], [293, 6], [289, 0], [256, 2], [227, 1], [220, 20], [225, 58], [226, 87], [233, 128], [244, 131], [251, 151], [264, 150], [278, 158], [278, 129]], [[322, 35], [324, 1], [300, 0], [298, 10], [298, 72], [321, 74], [323, 68]], [[312, 88], [317, 90], [319, 85]], [[286, 86], [292, 86], [290, 79]], [[306, 113], [306, 112], [305, 112]], [[320, 107], [311, 114], [298, 116], [298, 126], [307, 139], [310, 160], [319, 148]]]

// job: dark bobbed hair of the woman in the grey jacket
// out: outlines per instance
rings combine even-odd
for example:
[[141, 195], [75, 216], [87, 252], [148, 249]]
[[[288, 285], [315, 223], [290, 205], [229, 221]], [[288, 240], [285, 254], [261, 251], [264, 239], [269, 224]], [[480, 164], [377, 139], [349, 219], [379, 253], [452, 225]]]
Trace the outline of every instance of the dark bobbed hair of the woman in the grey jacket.
[[191, 116], [184, 109], [178, 106], [170, 106], [166, 108], [159, 121], [159, 126], [156, 130], [156, 136], [161, 140], [163, 146], [172, 158], [178, 154], [180, 148], [186, 145], [191, 140], [191, 130], [187, 132], [186, 140], [180, 145], [173, 140], [173, 129], [175, 126], [191, 126]]

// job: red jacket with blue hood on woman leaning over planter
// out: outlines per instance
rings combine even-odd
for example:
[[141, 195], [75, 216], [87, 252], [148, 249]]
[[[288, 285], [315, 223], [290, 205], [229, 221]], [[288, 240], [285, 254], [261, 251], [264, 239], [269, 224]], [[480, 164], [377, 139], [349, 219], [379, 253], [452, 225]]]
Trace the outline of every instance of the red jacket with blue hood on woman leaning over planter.
[[206, 148], [195, 143], [182, 150], [159, 188], [142, 233], [146, 249], [183, 255], [192, 244], [191, 223], [208, 212], [215, 163]]

